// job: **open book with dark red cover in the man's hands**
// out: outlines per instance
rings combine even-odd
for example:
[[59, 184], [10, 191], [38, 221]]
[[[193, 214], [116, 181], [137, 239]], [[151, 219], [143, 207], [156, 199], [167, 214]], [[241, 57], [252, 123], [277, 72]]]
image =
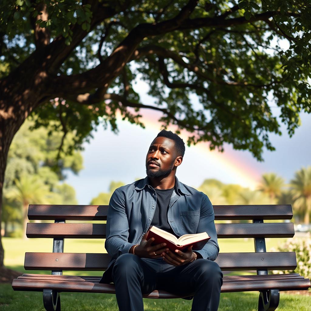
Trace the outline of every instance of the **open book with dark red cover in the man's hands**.
[[190, 245], [193, 245], [193, 250], [199, 250], [210, 239], [206, 232], [184, 234], [180, 238], [176, 238], [173, 234], [157, 228], [156, 226], [151, 226], [149, 228], [146, 239], [149, 240], [150, 238], [154, 238], [151, 245], [166, 243], [165, 247], [169, 248], [173, 252], [175, 249], [186, 249]]

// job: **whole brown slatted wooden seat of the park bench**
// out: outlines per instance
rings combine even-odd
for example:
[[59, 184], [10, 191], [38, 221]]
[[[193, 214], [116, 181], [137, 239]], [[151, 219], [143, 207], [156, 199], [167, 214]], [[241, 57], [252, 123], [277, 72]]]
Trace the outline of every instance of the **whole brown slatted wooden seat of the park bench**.
[[[101, 276], [57, 276], [44, 274], [27, 274], [19, 276], [12, 283], [14, 290], [42, 291], [43, 289], [58, 292], [92, 292], [114, 294], [114, 284], [99, 284]], [[290, 282], [290, 286], [288, 283]], [[258, 291], [278, 288], [279, 290], [307, 290], [310, 280], [298, 273], [277, 275], [224, 276], [221, 292]], [[145, 298], [181, 298], [164, 290], [154, 290]]]

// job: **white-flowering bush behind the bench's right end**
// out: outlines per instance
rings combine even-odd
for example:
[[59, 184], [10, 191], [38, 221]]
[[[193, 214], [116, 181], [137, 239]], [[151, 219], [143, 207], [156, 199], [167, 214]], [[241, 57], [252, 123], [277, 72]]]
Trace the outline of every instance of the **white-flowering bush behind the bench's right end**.
[[311, 279], [311, 234], [308, 232], [304, 238], [297, 237], [289, 239], [283, 246], [272, 252], [296, 252], [297, 268], [295, 270], [275, 270], [273, 274], [299, 273], [301, 276]]

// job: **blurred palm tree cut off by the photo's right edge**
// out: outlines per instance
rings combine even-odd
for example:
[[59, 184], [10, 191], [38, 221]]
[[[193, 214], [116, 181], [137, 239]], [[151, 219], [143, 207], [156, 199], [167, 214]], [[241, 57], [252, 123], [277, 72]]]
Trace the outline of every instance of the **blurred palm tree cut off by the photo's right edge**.
[[302, 168], [295, 173], [290, 181], [290, 190], [295, 199], [294, 207], [304, 214], [304, 223], [310, 223], [311, 213], [311, 166]]

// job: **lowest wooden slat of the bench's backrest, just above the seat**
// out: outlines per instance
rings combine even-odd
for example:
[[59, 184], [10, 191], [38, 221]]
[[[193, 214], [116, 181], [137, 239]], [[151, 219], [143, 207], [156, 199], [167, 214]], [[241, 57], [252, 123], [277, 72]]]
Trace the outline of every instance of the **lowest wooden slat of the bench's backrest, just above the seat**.
[[[103, 253], [26, 253], [26, 270], [91, 270], [103, 271], [110, 260]], [[295, 252], [219, 253], [216, 262], [222, 270], [293, 270]]]

